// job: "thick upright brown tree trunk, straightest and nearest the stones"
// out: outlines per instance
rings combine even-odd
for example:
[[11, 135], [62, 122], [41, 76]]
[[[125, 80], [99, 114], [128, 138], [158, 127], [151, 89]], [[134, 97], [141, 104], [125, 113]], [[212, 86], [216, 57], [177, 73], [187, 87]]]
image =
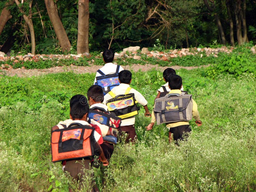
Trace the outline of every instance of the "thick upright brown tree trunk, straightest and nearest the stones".
[[89, 0], [78, 1], [77, 54], [89, 53]]

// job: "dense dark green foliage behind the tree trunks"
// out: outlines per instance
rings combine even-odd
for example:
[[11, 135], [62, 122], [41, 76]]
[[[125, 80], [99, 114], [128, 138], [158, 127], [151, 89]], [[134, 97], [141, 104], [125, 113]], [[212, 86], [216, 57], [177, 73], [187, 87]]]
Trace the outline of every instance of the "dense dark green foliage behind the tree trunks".
[[[3, 10], [6, 2], [9, 0], [0, 2], [0, 10]], [[90, 50], [102, 51], [108, 48], [110, 43], [116, 51], [135, 45], [153, 47], [157, 39], [164, 46], [164, 49], [221, 43], [220, 31], [215, 24], [216, 15], [221, 20], [224, 37], [230, 43], [228, 40], [230, 35], [229, 18], [225, 2], [216, 1], [212, 5], [215, 9], [209, 11], [204, 2], [198, 0], [90, 1]], [[252, 0], [245, 2], [248, 29], [246, 32], [248, 33], [248, 40], [254, 41], [256, 25], [252, 15], [254, 15], [256, 6]], [[44, 1], [25, 0], [21, 7], [27, 15], [30, 14], [30, 3], [32, 3], [31, 15], [36, 35], [36, 53], [60, 53], [61, 49]], [[78, 0], [55, 1], [61, 22], [71, 42], [71, 53], [76, 53], [77, 3]], [[4, 44], [5, 41], [8, 44], [13, 43], [11, 50], [15, 53], [20, 51], [26, 54], [31, 51], [28, 26], [22, 19], [22, 13], [15, 3], [9, 9], [12, 19], [8, 20], [1, 33], [0, 45]], [[233, 19], [235, 26], [235, 16], [232, 16], [231, 19]], [[236, 34], [236, 29], [233, 32]]]

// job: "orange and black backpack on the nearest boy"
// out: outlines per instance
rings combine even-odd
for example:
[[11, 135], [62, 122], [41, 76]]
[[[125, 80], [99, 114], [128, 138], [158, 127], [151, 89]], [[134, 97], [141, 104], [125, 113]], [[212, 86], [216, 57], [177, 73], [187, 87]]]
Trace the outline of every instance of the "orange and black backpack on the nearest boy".
[[100, 147], [94, 138], [92, 126], [80, 123], [62, 126], [64, 129], [52, 131], [52, 162], [99, 155]]

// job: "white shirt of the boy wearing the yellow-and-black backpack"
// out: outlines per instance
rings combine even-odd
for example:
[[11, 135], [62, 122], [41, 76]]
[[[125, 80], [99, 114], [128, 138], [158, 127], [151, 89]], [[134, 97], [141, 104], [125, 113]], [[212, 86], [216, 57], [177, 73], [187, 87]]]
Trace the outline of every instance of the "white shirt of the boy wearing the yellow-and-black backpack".
[[[120, 85], [114, 87], [111, 91], [117, 96], [117, 95], [122, 95], [125, 93], [125, 91], [127, 90], [127, 88], [130, 87], [129, 84], [124, 84], [121, 83]], [[134, 97], [135, 99], [138, 101], [138, 103], [140, 103], [142, 106], [145, 106], [148, 104], [148, 101], [143, 97], [143, 95], [136, 91], [135, 89], [131, 89], [129, 91], [129, 93], [134, 93]], [[108, 93], [104, 96], [104, 101], [103, 103], [106, 104], [107, 100], [112, 99], [111, 95], [109, 95]], [[131, 117], [128, 119], [122, 119], [122, 123], [121, 126], [126, 126], [126, 125], [133, 125], [135, 124], [135, 117]]]

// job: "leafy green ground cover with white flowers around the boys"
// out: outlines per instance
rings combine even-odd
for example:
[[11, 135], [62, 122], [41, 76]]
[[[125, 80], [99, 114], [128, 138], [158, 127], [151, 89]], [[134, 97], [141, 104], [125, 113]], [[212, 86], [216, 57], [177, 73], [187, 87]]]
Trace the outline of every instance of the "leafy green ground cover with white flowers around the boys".
[[[168, 143], [164, 125], [145, 131], [150, 119], [141, 110], [135, 124], [138, 142], [117, 144], [110, 165], [94, 169], [101, 191], [256, 190], [255, 76], [218, 70], [213, 76], [210, 70], [177, 70], [198, 104], [203, 125], [191, 122], [188, 141], [177, 147]], [[70, 180], [60, 163], [51, 162], [50, 130], [68, 118], [71, 96], [86, 94], [93, 79], [94, 74], [70, 72], [0, 77], [1, 190], [67, 191]], [[131, 86], [152, 110], [162, 84], [162, 71], [152, 69], [133, 73]], [[89, 178], [84, 191], [87, 183]]]

